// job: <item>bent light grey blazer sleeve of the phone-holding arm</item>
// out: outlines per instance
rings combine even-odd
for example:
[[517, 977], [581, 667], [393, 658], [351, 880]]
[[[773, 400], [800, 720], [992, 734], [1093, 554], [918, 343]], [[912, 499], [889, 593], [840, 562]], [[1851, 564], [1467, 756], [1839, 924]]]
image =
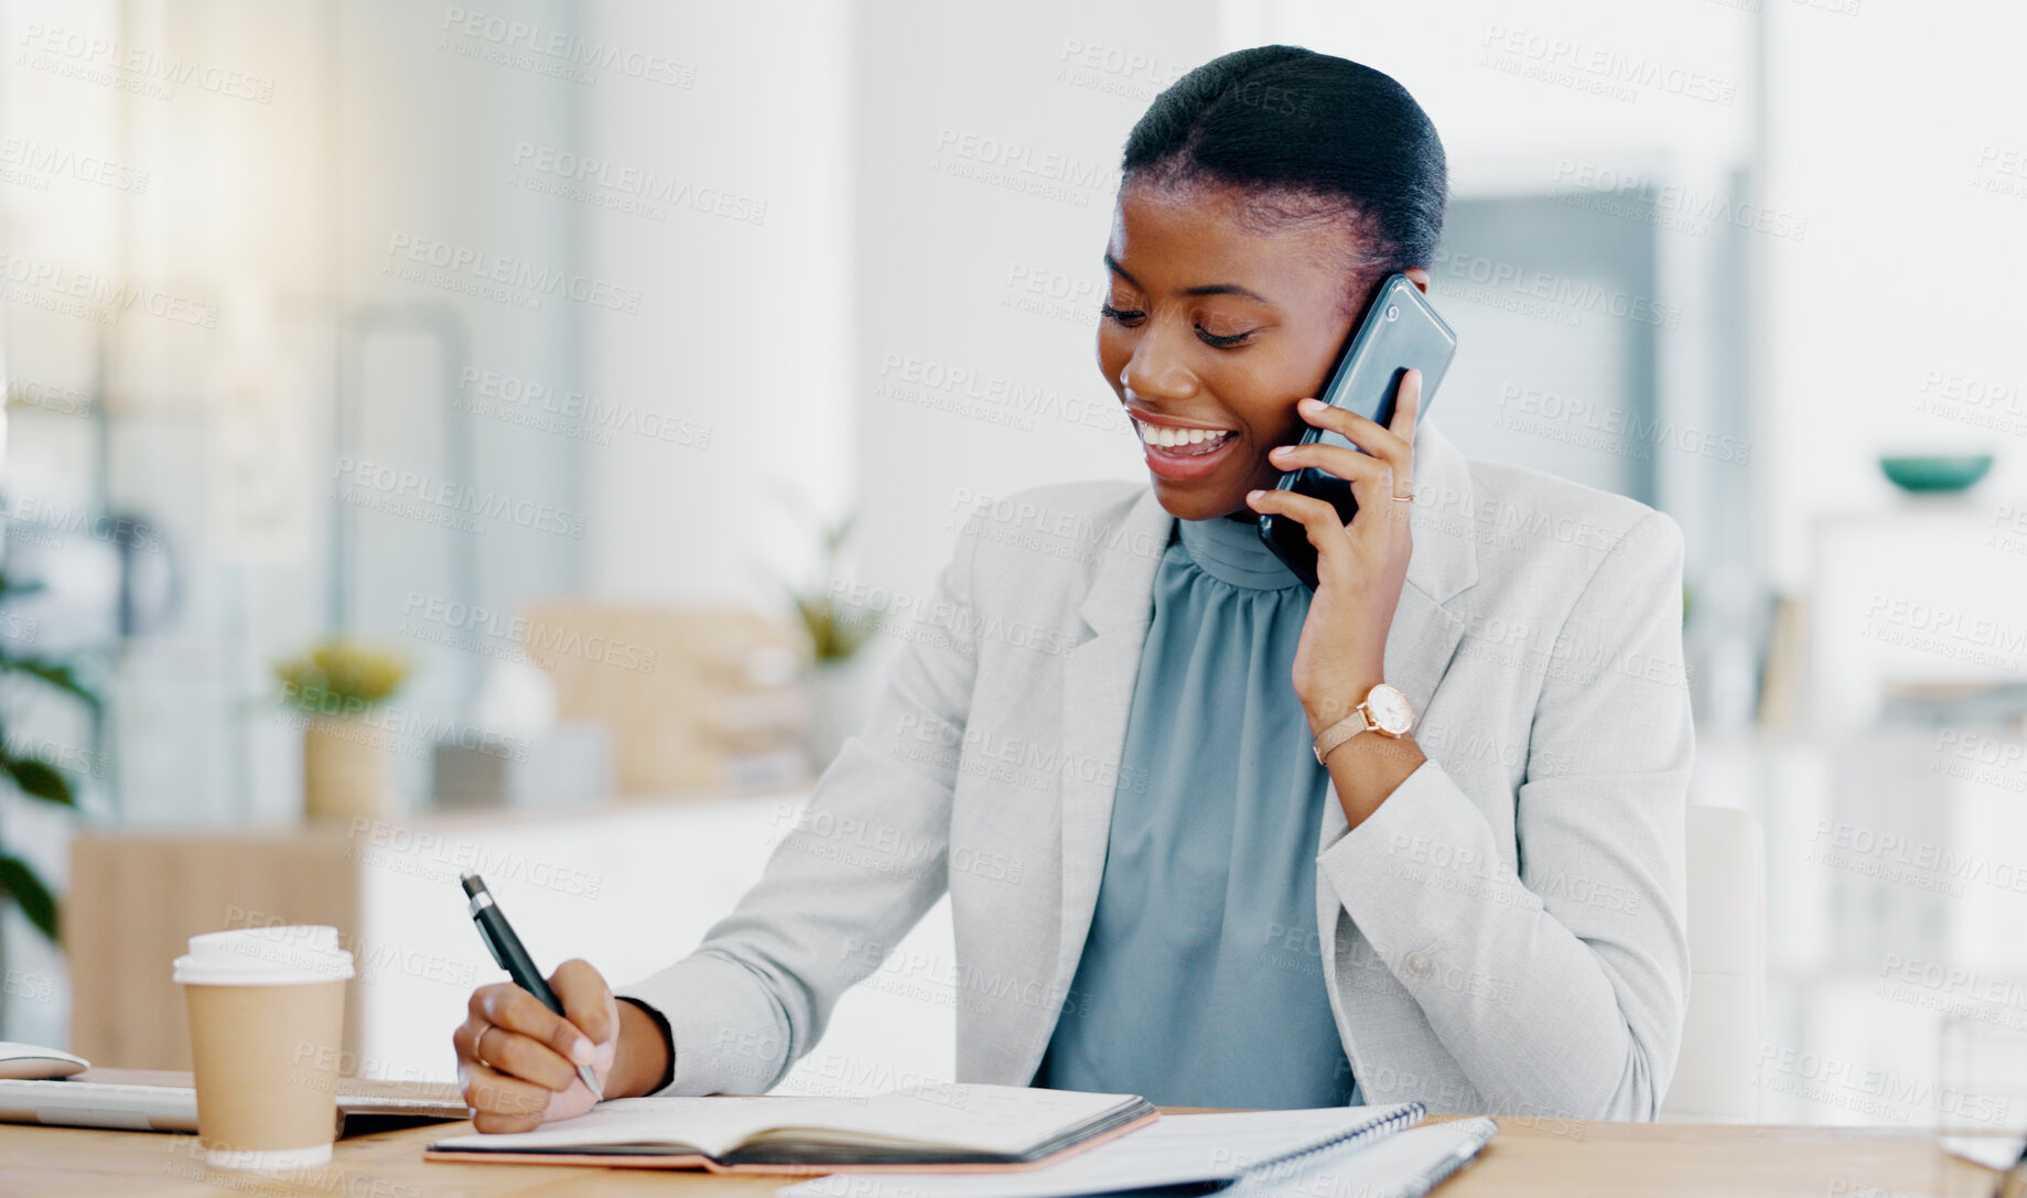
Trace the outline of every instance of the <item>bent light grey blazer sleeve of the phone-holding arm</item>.
[[1518, 859], [1431, 760], [1318, 868], [1494, 1111], [1654, 1119], [1688, 1003], [1674, 521], [1628, 529], [1567, 645], [1583, 653], [1547, 669], [1514, 795]]

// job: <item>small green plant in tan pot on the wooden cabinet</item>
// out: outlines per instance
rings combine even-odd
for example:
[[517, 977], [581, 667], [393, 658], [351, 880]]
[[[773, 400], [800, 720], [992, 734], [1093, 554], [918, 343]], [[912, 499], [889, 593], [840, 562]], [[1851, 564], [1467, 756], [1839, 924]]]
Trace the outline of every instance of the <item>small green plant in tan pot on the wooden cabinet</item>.
[[393, 815], [387, 734], [371, 712], [407, 681], [391, 649], [330, 639], [274, 667], [282, 699], [302, 718], [302, 811], [308, 819]]

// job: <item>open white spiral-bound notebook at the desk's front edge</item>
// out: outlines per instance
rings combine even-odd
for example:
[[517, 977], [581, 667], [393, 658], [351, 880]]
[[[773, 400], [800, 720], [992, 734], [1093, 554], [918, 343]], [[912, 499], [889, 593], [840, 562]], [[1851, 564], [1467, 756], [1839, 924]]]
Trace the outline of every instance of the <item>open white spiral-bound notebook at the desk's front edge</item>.
[[[1238, 1111], [1228, 1115], [1163, 1115], [1157, 1123], [1113, 1139], [1060, 1164], [1024, 1174], [914, 1174], [908, 1178], [817, 1178], [778, 1190], [780, 1198], [1080, 1198], [1123, 1190], [1212, 1192], [1224, 1186], [1281, 1182], [1324, 1164], [1354, 1164], [1366, 1149], [1421, 1123], [1421, 1103], [1388, 1107], [1328, 1107], [1318, 1111]], [[1482, 1137], [1490, 1139], [1490, 1121]], [[1447, 1131], [1437, 1125], [1427, 1131]], [[1455, 1157], [1468, 1137], [1445, 1135], [1409, 1153], [1391, 1153], [1388, 1174], [1405, 1182], [1401, 1194], [1421, 1194], [1441, 1159]], [[1478, 1151], [1472, 1145], [1472, 1151]], [[1461, 1159], [1470, 1159], [1466, 1153]], [[1461, 1164], [1461, 1159], [1457, 1164]], [[1346, 1192], [1366, 1194], [1366, 1178]], [[1384, 1180], [1384, 1178], [1374, 1178]], [[1417, 1184], [1419, 1182], [1419, 1188]], [[1374, 1196], [1393, 1190], [1370, 1190]]]

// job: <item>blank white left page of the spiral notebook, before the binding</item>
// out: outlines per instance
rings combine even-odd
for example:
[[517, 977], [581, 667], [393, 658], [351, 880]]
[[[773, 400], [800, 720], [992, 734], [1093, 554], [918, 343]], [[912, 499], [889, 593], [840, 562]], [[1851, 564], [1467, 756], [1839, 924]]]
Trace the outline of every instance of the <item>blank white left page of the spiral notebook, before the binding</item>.
[[780, 1198], [1072, 1198], [1230, 1180], [1255, 1162], [1301, 1151], [1403, 1107], [1163, 1115], [1119, 1139], [1040, 1170], [1007, 1174], [831, 1174]]

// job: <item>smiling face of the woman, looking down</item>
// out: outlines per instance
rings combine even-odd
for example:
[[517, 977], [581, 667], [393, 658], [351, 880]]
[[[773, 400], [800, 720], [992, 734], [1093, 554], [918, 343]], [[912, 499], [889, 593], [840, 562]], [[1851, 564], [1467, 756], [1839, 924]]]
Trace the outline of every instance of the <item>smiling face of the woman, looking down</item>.
[[1238, 201], [1127, 186], [1105, 247], [1099, 369], [1133, 418], [1155, 497], [1182, 519], [1253, 517], [1247, 491], [1281, 474], [1267, 450], [1301, 438], [1295, 401], [1324, 387], [1352, 326], [1344, 223], [1259, 233], [1238, 223]]

